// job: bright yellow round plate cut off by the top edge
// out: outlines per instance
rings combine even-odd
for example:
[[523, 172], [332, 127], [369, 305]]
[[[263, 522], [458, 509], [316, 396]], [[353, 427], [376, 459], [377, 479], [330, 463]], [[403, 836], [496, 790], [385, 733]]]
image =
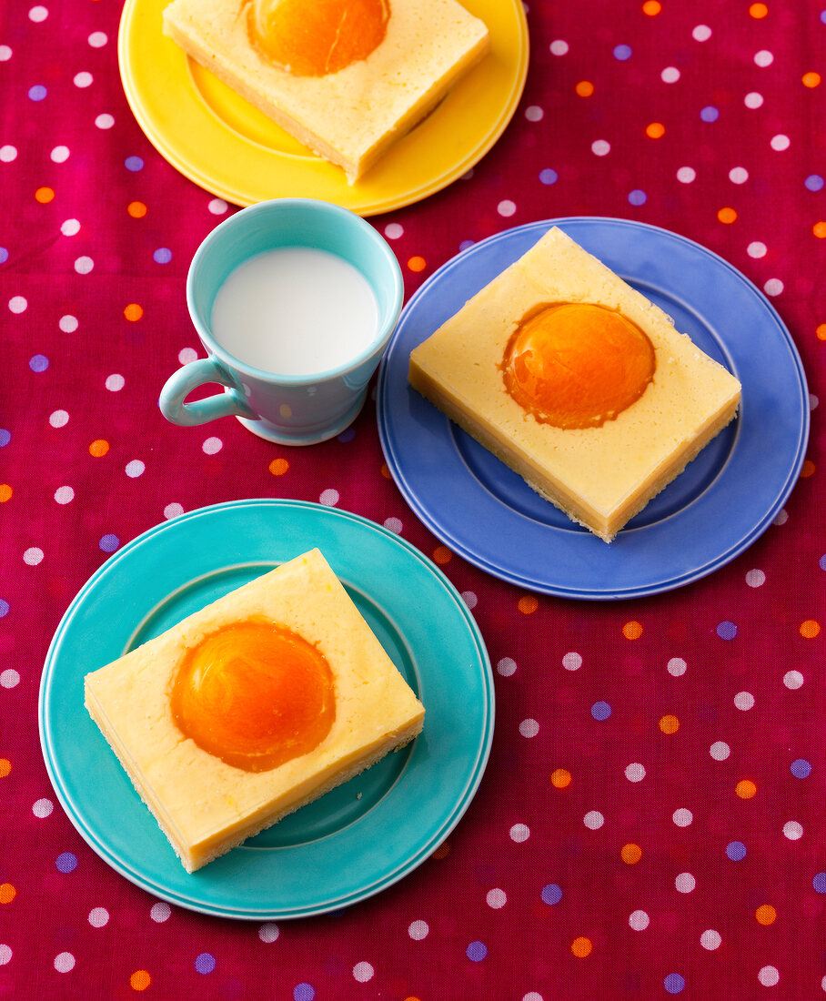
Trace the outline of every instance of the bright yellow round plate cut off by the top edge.
[[528, 73], [521, 0], [463, 0], [492, 48], [436, 110], [361, 179], [311, 153], [161, 33], [169, 0], [126, 0], [120, 78], [138, 124], [190, 180], [236, 205], [267, 198], [332, 201], [360, 215], [426, 198], [461, 177], [511, 120]]

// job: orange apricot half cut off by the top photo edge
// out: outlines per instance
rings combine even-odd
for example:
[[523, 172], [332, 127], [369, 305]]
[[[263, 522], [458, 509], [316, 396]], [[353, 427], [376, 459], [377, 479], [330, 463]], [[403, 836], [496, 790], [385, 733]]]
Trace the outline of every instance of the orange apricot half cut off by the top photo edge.
[[252, 0], [249, 38], [293, 76], [326, 76], [366, 59], [389, 14], [388, 0]]

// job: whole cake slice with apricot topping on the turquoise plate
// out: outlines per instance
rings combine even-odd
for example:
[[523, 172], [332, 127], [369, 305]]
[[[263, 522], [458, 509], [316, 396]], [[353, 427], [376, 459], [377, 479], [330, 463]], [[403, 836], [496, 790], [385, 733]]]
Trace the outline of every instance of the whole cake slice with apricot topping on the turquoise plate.
[[407, 744], [425, 717], [318, 550], [88, 674], [85, 702], [188, 872]]

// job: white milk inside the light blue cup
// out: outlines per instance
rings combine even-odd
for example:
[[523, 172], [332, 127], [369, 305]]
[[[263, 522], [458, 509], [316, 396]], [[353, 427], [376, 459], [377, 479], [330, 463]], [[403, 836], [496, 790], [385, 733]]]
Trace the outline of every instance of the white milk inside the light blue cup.
[[264, 250], [218, 289], [212, 335], [230, 354], [280, 375], [345, 364], [375, 339], [378, 305], [349, 261], [314, 247]]

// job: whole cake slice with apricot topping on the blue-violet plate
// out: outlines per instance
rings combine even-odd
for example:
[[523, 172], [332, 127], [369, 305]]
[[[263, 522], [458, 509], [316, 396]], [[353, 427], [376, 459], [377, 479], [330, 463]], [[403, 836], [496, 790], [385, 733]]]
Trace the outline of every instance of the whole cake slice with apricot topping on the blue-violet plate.
[[606, 542], [740, 402], [734, 375], [557, 226], [414, 348], [409, 381]]

